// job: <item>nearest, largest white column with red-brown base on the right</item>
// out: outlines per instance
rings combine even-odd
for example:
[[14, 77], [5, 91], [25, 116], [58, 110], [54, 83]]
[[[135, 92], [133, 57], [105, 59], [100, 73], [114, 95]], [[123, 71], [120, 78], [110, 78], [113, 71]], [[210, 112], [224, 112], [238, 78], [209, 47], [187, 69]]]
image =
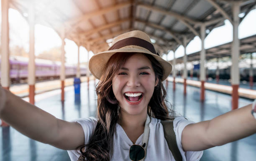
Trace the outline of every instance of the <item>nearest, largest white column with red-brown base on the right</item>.
[[238, 25], [240, 23], [240, 18], [238, 14], [240, 13], [240, 2], [233, 2], [233, 43], [231, 49], [231, 84], [232, 84], [232, 110], [238, 108], [238, 87], [240, 82], [240, 74], [238, 67], [238, 59], [240, 56], [239, 50], [239, 39], [238, 39]]

